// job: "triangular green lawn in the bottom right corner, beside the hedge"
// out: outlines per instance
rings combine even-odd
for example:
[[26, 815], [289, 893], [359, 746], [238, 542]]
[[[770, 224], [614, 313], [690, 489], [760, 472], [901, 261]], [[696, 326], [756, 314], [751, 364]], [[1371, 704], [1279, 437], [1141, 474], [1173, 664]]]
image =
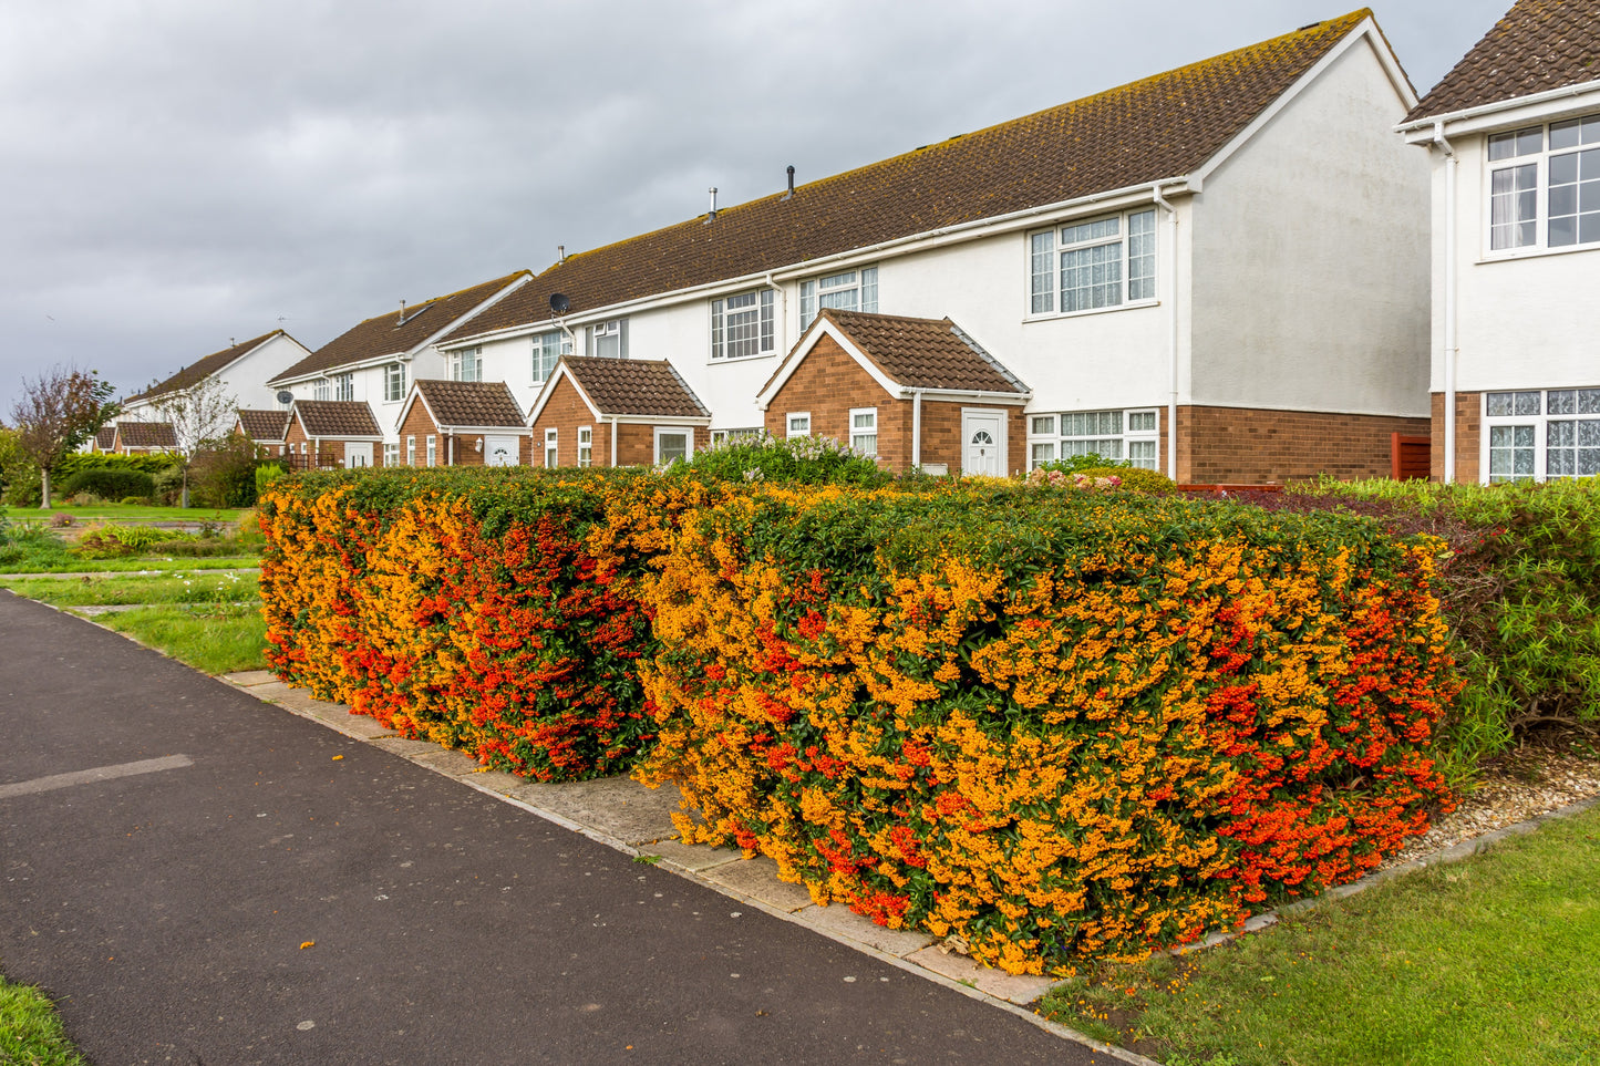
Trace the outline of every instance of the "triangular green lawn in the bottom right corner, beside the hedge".
[[1106, 968], [1040, 1012], [1168, 1066], [1594, 1063], [1600, 810], [1186, 959]]

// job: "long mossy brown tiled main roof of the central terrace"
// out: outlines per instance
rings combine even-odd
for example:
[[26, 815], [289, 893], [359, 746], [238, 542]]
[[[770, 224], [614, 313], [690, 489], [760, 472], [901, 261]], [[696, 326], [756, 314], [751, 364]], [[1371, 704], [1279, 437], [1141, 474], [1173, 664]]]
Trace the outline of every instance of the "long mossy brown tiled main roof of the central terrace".
[[446, 339], [798, 266], [946, 226], [1187, 174], [1288, 90], [1366, 10], [880, 163], [568, 256]]

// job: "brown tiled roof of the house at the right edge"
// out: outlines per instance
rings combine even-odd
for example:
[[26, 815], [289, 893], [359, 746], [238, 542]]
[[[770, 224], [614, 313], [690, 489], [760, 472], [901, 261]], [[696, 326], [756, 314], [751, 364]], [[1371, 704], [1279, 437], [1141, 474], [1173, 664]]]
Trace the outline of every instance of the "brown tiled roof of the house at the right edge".
[[1517, 0], [1406, 122], [1600, 78], [1600, 3]]

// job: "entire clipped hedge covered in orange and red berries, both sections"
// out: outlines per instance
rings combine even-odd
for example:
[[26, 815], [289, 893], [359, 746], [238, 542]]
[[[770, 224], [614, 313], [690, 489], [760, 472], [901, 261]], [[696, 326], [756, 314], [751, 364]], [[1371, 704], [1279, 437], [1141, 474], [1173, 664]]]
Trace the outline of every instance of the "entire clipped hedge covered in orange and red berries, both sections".
[[[269, 659], [1014, 973], [1360, 877], [1450, 804], [1434, 544], [1125, 491], [384, 471], [261, 504]], [[642, 760], [642, 762], [640, 762]]]

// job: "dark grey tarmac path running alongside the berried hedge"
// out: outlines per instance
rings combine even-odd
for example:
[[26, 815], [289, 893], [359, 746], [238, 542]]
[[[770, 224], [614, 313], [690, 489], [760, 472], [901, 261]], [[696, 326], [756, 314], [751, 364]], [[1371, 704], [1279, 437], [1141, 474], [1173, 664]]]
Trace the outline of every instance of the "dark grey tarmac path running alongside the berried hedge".
[[0, 970], [98, 1066], [1109, 1061], [8, 592], [0, 738]]

